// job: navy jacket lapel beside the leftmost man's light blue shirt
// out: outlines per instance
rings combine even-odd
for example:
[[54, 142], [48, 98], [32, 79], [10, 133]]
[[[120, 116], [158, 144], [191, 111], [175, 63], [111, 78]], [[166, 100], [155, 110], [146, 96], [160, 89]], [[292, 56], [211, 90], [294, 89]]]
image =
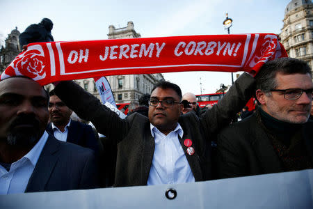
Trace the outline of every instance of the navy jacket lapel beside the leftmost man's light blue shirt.
[[45, 185], [47, 185], [54, 166], [58, 161], [58, 155], [55, 155], [55, 153], [58, 151], [59, 146], [60, 142], [57, 139], [51, 136], [48, 137], [25, 192], [45, 191]]

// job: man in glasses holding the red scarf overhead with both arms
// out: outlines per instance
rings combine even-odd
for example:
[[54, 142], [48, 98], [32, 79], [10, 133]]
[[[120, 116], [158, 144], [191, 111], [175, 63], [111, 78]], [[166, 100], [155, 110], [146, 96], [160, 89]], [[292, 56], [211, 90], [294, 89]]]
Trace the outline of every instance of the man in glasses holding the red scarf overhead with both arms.
[[[182, 115], [182, 91], [170, 82], [152, 89], [148, 118], [121, 119], [74, 82], [54, 88], [67, 107], [92, 123], [117, 146], [115, 187], [188, 183], [211, 178], [211, 138], [252, 96], [254, 80], [243, 74], [201, 117]], [[209, 146], [208, 146], [209, 145]]]

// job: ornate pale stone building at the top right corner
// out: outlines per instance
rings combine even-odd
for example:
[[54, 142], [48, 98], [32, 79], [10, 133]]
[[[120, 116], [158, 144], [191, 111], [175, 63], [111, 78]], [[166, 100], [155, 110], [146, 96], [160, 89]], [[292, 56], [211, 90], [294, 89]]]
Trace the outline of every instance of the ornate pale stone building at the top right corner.
[[313, 3], [292, 0], [284, 10], [281, 42], [288, 55], [313, 66]]

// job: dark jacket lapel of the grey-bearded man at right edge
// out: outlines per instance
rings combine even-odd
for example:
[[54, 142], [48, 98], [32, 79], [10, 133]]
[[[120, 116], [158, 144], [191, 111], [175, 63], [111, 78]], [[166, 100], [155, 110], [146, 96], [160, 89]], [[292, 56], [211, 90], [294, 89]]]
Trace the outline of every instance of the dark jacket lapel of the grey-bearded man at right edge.
[[278, 173], [283, 171], [282, 164], [278, 155], [275, 153], [270, 139], [266, 132], [262, 130], [262, 127], [257, 123], [255, 115], [252, 116], [250, 123], [251, 133], [255, 136], [251, 136], [251, 145], [255, 150], [257, 158], [262, 166], [264, 173]]

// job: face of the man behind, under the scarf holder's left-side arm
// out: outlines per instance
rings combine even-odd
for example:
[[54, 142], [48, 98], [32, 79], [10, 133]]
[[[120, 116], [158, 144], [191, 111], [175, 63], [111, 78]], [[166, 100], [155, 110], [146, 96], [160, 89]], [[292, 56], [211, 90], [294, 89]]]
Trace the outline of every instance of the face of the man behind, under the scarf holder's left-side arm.
[[49, 102], [49, 118], [54, 125], [67, 125], [72, 110], [57, 95], [51, 95]]

